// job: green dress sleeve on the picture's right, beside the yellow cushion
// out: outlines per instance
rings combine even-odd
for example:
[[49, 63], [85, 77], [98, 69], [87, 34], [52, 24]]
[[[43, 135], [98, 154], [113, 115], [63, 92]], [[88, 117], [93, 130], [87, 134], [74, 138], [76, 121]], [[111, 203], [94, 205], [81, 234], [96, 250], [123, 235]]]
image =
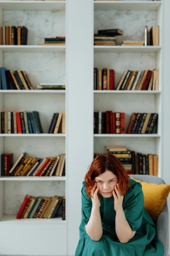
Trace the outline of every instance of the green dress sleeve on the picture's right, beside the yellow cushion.
[[144, 211], [144, 195], [142, 185], [136, 182], [126, 195], [124, 214], [132, 231], [136, 231], [142, 224]]

